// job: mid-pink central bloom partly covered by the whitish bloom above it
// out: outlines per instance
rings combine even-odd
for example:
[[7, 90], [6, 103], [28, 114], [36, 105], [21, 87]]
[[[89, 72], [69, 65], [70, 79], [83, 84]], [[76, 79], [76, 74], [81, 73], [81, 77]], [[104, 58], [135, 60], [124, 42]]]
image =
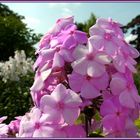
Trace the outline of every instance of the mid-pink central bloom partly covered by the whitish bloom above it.
[[100, 96], [100, 91], [107, 88], [109, 77], [107, 73], [104, 73], [100, 77], [93, 78], [88, 75], [83, 76], [73, 72], [69, 75], [69, 84], [71, 89], [75, 92], [80, 92], [82, 97], [92, 99]]

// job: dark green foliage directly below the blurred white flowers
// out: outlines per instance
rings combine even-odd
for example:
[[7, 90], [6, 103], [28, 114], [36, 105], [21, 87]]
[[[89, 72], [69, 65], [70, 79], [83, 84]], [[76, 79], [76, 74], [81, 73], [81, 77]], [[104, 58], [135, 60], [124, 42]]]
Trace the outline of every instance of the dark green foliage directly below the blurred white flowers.
[[24, 115], [32, 105], [30, 87], [34, 73], [21, 76], [19, 81], [4, 83], [0, 79], [0, 116], [8, 116], [7, 123], [16, 116]]

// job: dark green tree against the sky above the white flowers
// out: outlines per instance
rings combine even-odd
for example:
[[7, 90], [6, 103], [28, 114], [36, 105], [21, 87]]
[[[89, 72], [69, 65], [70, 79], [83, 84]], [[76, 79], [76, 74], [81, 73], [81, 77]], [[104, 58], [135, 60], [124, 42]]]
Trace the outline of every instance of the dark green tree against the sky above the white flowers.
[[24, 16], [0, 3], [0, 61], [14, 56], [15, 50], [25, 50], [27, 56], [33, 55], [33, 45], [39, 41], [40, 34], [27, 28], [23, 19]]

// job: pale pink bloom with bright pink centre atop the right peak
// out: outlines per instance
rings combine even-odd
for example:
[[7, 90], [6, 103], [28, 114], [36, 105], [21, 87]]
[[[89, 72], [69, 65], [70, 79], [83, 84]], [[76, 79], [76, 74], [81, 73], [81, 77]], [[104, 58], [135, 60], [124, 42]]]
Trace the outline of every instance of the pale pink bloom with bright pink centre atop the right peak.
[[97, 50], [103, 50], [109, 56], [114, 57], [121, 47], [121, 40], [115, 32], [108, 29], [102, 29], [98, 25], [90, 28], [90, 42]]

